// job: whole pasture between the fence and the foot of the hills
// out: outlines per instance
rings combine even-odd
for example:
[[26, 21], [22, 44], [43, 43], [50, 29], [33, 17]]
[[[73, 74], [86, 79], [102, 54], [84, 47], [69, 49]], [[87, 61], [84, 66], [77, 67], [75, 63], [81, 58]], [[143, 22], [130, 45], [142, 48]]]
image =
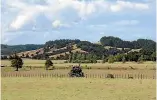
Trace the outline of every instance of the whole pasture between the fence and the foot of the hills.
[[[77, 63], [64, 63], [64, 60], [53, 60], [55, 70], [45, 70], [44, 63], [45, 60], [32, 60], [32, 59], [23, 59], [24, 65], [23, 68], [19, 69], [21, 74], [64, 74], [67, 75], [70, 72], [72, 65], [78, 65]], [[100, 62], [100, 61], [99, 61]], [[2, 65], [6, 67], [1, 68], [2, 75], [4, 73], [16, 74], [15, 68], [10, 67], [9, 60], [2, 60]], [[134, 77], [142, 74], [143, 77], [153, 78], [155, 77], [155, 62], [144, 62], [138, 64], [136, 62], [115, 62], [112, 64], [109, 63], [96, 63], [96, 64], [81, 64], [83, 72], [89, 75], [99, 75], [104, 76], [104, 74], [117, 74], [120, 76], [132, 74]], [[50, 68], [51, 69], [51, 68]], [[141, 76], [141, 75], [140, 75]]]

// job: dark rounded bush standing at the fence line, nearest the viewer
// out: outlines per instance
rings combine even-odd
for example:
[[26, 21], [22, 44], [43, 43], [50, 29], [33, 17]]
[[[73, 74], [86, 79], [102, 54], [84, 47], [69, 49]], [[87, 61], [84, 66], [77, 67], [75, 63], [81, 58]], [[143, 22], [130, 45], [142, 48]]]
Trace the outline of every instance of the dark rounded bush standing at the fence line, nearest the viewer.
[[80, 66], [72, 67], [70, 73], [70, 77], [84, 77], [84, 73], [82, 72], [82, 68]]

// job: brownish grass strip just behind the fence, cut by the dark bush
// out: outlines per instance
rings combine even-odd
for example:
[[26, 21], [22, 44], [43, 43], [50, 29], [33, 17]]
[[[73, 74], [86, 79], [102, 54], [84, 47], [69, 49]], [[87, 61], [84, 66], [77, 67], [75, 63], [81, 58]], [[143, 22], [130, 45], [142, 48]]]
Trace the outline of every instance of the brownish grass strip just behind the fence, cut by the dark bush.
[[[7, 67], [7, 68], [1, 68], [1, 72], [3, 73], [28, 73], [28, 74], [39, 74], [39, 73], [48, 73], [48, 74], [68, 74], [70, 72], [70, 69], [55, 69], [55, 70], [45, 70], [43, 68], [38, 69], [32, 69], [29, 68], [22, 68], [18, 72], [15, 71], [15, 68]], [[153, 77], [155, 75], [155, 70], [101, 70], [101, 69], [83, 69], [84, 74], [92, 74], [92, 75], [104, 75], [104, 74], [118, 74], [118, 75], [127, 75], [127, 74], [143, 74], [147, 77]]]

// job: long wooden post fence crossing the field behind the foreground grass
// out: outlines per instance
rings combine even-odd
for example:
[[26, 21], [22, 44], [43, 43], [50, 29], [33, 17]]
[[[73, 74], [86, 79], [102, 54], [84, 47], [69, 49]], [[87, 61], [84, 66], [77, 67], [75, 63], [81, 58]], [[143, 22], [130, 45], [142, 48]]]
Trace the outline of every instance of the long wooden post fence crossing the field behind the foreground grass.
[[[107, 78], [107, 73], [105, 74], [85, 74], [85, 78]], [[122, 79], [156, 79], [156, 75], [146, 75], [146, 74], [112, 74], [114, 78]], [[69, 77], [68, 74], [62, 73], [21, 73], [21, 72], [12, 72], [12, 73], [1, 73], [1, 77], [56, 77], [64, 78]]]

